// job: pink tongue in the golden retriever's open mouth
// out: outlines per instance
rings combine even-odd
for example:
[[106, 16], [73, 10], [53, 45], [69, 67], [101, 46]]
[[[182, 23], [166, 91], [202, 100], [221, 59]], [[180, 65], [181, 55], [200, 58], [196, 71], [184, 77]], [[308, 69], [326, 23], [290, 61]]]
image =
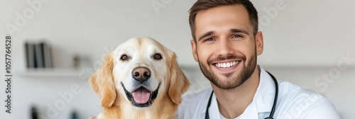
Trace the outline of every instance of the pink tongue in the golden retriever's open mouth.
[[151, 97], [151, 93], [147, 89], [139, 88], [133, 91], [132, 96], [136, 103], [147, 103]]

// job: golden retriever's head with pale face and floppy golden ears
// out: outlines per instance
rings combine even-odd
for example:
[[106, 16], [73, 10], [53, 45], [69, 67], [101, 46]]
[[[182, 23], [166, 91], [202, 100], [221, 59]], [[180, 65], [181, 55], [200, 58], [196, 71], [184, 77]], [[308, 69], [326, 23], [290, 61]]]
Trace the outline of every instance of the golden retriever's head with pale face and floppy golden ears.
[[119, 45], [89, 82], [104, 108], [111, 107], [119, 96], [136, 107], [149, 107], [164, 96], [179, 104], [190, 84], [175, 53], [152, 38], [131, 38]]

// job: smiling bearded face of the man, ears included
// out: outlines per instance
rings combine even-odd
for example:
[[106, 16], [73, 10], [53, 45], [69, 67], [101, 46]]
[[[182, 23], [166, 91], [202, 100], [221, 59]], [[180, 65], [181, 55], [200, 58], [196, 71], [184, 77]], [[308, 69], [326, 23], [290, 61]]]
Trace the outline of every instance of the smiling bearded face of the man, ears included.
[[194, 58], [209, 81], [220, 89], [234, 89], [256, 71], [256, 57], [263, 52], [261, 32], [253, 27], [242, 5], [219, 6], [197, 13], [191, 40]]

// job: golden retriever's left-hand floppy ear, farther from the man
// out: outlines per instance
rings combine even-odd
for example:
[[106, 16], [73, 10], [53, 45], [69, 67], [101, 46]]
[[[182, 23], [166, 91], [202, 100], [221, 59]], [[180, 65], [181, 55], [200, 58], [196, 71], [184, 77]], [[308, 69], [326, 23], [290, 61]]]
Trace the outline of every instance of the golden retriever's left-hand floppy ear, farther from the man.
[[116, 99], [116, 88], [112, 78], [112, 69], [114, 68], [114, 54], [110, 52], [97, 72], [92, 74], [89, 82], [92, 89], [100, 96], [101, 106], [109, 108]]

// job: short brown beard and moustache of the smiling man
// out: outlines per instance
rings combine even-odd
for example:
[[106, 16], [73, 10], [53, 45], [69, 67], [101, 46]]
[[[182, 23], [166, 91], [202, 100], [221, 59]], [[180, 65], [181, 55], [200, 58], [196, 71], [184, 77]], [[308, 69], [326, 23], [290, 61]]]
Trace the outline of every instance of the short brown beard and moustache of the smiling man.
[[[239, 75], [236, 76], [236, 79], [230, 79], [231, 75], [234, 72], [226, 73], [223, 74], [226, 79], [219, 79], [216, 74], [211, 70], [211, 68], [207, 69], [207, 67], [210, 66], [211, 62], [216, 62], [216, 61], [222, 61], [222, 60], [234, 60], [236, 58], [241, 59], [244, 64], [240, 65], [237, 67], [241, 67], [241, 72]], [[239, 62], [241, 63], [241, 62]], [[247, 65], [246, 65], [247, 64]], [[244, 84], [246, 80], [248, 80], [251, 77], [251, 74], [253, 74], [255, 68], [256, 68], [256, 52], [251, 56], [251, 59], [246, 61], [245, 55], [227, 55], [226, 57], [217, 57], [214, 60], [208, 60], [207, 65], [202, 64], [202, 62], [199, 62], [200, 69], [202, 73], [204, 74], [204, 77], [209, 79], [214, 85], [216, 85], [220, 89], [234, 89], [238, 86], [241, 86], [241, 84]]]

